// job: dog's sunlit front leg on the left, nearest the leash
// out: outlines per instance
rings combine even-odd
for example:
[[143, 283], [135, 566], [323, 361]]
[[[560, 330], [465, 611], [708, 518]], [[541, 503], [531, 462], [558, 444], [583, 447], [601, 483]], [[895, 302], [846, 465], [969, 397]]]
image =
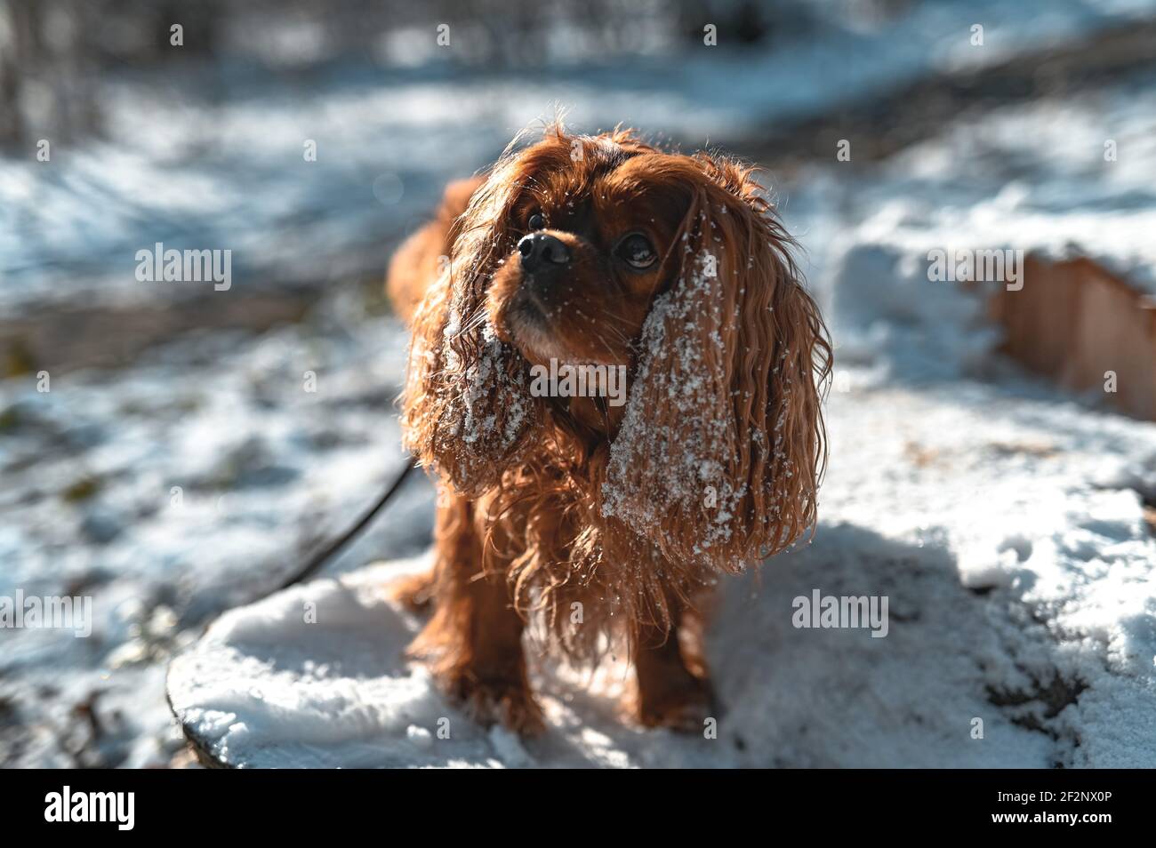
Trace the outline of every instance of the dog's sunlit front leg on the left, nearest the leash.
[[438, 507], [435, 610], [409, 652], [430, 661], [438, 684], [475, 721], [534, 735], [544, 726], [526, 676], [524, 622], [505, 574], [483, 572], [475, 508], [457, 496]]

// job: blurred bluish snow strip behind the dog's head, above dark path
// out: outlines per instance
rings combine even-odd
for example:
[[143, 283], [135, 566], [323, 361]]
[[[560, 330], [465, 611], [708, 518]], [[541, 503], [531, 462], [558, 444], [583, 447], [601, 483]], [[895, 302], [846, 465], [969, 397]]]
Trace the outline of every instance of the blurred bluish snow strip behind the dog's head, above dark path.
[[[586, 128], [625, 121], [698, 147], [757, 139], [775, 121], [1156, 13], [1153, 0], [887, 6], [816, 3], [814, 31], [764, 51], [734, 49], [724, 29], [717, 47], [529, 72], [457, 68], [430, 50], [416, 68], [350, 61], [290, 84], [116, 77], [102, 87], [105, 141], [55, 143], [49, 162], [31, 148], [0, 157], [0, 307], [190, 295], [136, 282], [136, 251], [157, 241], [232, 251], [238, 292], [364, 273], [366, 258], [384, 265], [446, 179], [487, 165], [551, 104]], [[433, 37], [393, 40], [416, 49]]]

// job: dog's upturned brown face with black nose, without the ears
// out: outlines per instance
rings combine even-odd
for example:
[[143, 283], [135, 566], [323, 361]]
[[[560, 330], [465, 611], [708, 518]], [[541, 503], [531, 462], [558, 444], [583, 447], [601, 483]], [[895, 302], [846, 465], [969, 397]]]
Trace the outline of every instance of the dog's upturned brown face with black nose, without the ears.
[[662, 177], [672, 158], [613, 142], [543, 142], [520, 157], [512, 250], [487, 311], [527, 362], [632, 364], [690, 201], [689, 185]]

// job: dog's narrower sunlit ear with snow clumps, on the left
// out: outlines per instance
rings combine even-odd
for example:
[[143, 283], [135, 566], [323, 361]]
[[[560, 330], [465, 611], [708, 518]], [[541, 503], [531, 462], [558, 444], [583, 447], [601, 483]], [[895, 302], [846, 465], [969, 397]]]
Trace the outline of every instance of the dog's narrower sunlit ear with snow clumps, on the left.
[[405, 445], [467, 494], [496, 484], [541, 421], [524, 360], [494, 336], [486, 314], [490, 278], [513, 246], [509, 220], [518, 191], [507, 151], [454, 223], [449, 261], [413, 320]]

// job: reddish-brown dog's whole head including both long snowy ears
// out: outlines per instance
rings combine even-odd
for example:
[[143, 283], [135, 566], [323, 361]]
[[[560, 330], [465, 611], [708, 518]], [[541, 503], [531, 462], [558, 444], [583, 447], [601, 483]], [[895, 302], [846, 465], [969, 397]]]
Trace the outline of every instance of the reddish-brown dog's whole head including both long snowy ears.
[[[403, 417], [450, 484], [498, 485], [566, 436], [603, 535], [676, 561], [733, 568], [813, 523], [830, 347], [750, 169], [551, 127], [503, 156], [452, 238]], [[551, 359], [623, 366], [625, 407], [536, 396]]]

